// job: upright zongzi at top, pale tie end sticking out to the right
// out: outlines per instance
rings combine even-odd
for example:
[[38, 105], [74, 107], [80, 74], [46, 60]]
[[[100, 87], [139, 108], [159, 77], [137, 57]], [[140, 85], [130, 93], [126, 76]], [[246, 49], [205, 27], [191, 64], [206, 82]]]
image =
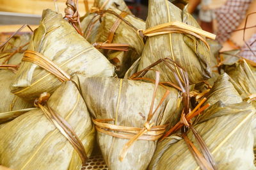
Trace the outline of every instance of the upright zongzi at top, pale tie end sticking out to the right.
[[[186, 8], [180, 10], [168, 0], [149, 0], [146, 25], [147, 29], [143, 31], [143, 34], [149, 37], [138, 70], [158, 59], [171, 58], [186, 68], [191, 84], [202, 82], [211, 77], [211, 52], [204, 37], [209, 34], [200, 29]], [[191, 30], [193, 28], [193, 31], [188, 31], [188, 27]], [[211, 37], [214, 38], [213, 35]], [[177, 83], [167, 66], [161, 64], [154, 68], [163, 73], [161, 81]], [[175, 66], [173, 68], [177, 69]], [[145, 76], [154, 77], [152, 73], [147, 73]]]

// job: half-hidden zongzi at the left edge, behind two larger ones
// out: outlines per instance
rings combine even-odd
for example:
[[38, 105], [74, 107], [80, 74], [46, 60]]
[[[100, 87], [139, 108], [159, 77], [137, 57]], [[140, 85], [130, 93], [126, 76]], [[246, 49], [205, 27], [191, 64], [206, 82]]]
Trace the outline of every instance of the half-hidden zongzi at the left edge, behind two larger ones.
[[[15, 78], [15, 72], [24, 54], [28, 48], [31, 35], [23, 34], [13, 36], [0, 52], [0, 123], [16, 118], [31, 104], [22, 100], [11, 93], [10, 85]], [[10, 67], [9, 67], [10, 66]]]

